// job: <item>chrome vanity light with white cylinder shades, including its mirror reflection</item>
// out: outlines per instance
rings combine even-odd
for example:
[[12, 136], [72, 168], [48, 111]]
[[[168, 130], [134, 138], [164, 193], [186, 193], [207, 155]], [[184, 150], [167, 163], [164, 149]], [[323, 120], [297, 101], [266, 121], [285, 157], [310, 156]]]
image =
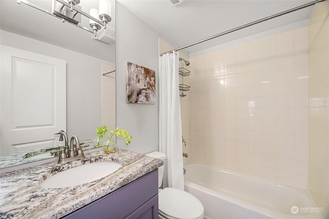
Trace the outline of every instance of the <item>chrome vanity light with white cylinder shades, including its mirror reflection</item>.
[[[35, 9], [38, 9], [50, 15], [61, 18], [63, 23], [66, 21], [86, 31], [94, 33], [94, 37], [96, 37], [97, 31], [99, 31], [102, 28], [102, 26], [104, 27], [103, 29], [106, 29], [106, 24], [111, 22], [112, 20], [111, 18], [112, 6], [109, 0], [99, 0], [99, 10], [90, 9], [90, 14], [81, 10], [81, 7], [79, 6], [80, 0], [66, 0], [66, 1], [52, 0], [51, 12], [27, 0], [17, 0], [17, 3], [18, 4], [24, 3]], [[84, 27], [81, 24], [81, 15], [84, 15], [89, 18], [89, 27], [92, 28], [92, 30], [90, 30], [90, 28], [88, 27]]]

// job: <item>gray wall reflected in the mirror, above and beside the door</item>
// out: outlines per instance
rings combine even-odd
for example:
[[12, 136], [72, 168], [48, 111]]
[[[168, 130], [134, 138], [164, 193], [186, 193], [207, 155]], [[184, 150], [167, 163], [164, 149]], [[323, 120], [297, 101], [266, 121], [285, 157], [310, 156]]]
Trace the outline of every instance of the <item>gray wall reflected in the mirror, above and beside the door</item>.
[[101, 64], [114, 64], [6, 31], [1, 44], [66, 60], [67, 134], [94, 139], [101, 125]]

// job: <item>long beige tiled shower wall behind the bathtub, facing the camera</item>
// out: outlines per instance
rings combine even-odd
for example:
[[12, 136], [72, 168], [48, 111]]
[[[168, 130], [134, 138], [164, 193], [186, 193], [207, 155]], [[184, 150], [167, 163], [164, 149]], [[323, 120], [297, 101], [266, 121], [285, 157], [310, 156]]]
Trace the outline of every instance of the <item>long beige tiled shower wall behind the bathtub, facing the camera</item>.
[[308, 28], [190, 62], [191, 160], [307, 188]]

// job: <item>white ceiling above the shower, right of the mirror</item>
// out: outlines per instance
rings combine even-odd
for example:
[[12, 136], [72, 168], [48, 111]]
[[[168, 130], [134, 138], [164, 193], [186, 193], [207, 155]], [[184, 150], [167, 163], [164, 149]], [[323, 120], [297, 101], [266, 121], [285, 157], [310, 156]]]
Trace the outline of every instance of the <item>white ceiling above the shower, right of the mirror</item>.
[[[175, 44], [173, 46], [178, 48], [312, 1], [184, 0], [176, 6], [173, 6], [170, 0], [117, 0], [117, 2], [167, 37]], [[182, 51], [189, 54], [231, 42], [234, 39], [308, 20], [312, 11], [313, 6]]]

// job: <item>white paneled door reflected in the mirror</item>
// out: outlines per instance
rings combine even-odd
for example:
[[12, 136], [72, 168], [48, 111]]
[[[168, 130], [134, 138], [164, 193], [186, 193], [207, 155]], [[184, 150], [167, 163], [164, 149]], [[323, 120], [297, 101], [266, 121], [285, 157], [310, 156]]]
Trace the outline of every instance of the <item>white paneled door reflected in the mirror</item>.
[[66, 61], [1, 45], [1, 153], [59, 144], [66, 131]]

